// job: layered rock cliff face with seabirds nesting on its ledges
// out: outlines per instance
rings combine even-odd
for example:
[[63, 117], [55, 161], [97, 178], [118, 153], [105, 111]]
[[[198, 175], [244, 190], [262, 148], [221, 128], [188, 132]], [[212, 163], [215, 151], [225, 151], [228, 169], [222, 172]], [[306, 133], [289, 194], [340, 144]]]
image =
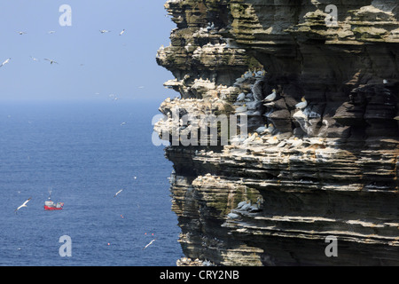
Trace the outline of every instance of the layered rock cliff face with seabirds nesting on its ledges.
[[[172, 142], [185, 256], [216, 265], [399, 265], [399, 4], [165, 7], [177, 28], [157, 62], [175, 76], [165, 86], [180, 98], [161, 104], [155, 130]], [[220, 126], [217, 145], [186, 144], [182, 136], [212, 135], [194, 131], [184, 114], [245, 114], [249, 134], [224, 145]], [[338, 256], [325, 253], [331, 236]]]

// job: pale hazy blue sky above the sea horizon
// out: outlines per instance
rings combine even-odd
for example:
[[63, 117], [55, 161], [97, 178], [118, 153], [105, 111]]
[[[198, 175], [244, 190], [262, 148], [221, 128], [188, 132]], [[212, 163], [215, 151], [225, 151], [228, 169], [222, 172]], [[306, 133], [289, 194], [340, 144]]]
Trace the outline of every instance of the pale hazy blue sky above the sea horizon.
[[[165, 2], [1, 1], [0, 64], [12, 59], [0, 67], [0, 100], [175, 96], [162, 85], [172, 74], [155, 61], [156, 51], [169, 44], [170, 31], [176, 28], [166, 17]], [[72, 9], [70, 27], [59, 24], [62, 4]], [[100, 29], [111, 32], [101, 34]], [[126, 31], [119, 36], [122, 29]]]

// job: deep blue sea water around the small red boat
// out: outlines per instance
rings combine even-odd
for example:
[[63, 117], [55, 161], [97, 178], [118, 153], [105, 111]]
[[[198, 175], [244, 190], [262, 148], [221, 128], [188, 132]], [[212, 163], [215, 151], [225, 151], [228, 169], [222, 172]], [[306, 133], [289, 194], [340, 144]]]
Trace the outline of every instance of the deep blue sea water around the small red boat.
[[[172, 164], [152, 143], [159, 104], [0, 103], [0, 265], [176, 265]], [[50, 187], [63, 210], [43, 209]]]

